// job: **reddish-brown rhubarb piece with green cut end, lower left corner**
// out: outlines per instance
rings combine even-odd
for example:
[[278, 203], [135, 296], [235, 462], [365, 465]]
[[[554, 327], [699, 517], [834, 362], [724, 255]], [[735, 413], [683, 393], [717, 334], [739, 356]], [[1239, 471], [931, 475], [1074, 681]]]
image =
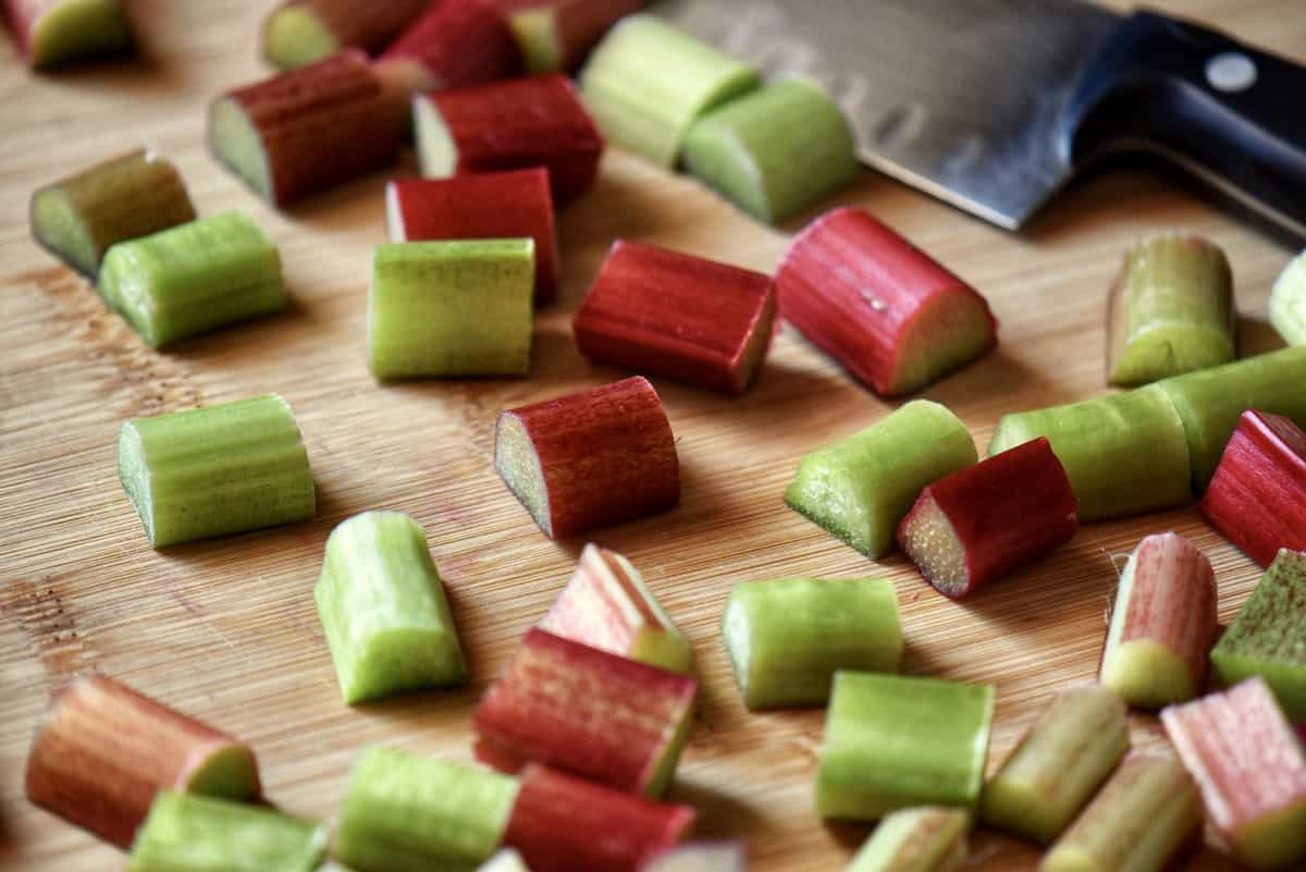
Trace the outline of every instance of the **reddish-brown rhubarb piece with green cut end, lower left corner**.
[[55, 692], [27, 755], [27, 799], [129, 847], [159, 790], [260, 795], [253, 751], [106, 675]]

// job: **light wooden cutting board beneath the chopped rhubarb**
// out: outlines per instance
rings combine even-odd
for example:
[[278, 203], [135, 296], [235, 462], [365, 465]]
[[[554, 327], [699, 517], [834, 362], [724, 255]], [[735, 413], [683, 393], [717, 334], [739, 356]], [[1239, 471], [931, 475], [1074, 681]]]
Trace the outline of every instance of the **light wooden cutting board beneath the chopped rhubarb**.
[[[384, 743], [470, 757], [469, 714], [567, 580], [582, 540], [546, 539], [491, 465], [500, 409], [615, 380], [586, 363], [569, 319], [619, 238], [771, 272], [803, 223], [772, 230], [693, 180], [609, 154], [597, 189], [559, 217], [562, 300], [542, 312], [534, 371], [517, 381], [380, 386], [364, 368], [371, 249], [384, 240], [377, 175], [278, 214], [204, 146], [206, 102], [266, 73], [259, 21], [269, 3], [140, 0], [144, 60], [34, 77], [0, 56], [0, 868], [118, 869], [114, 849], [29, 805], [22, 768], [51, 688], [85, 670], [116, 675], [253, 743], [281, 807], [336, 813], [359, 748]], [[1117, 1], [1113, 5], [1123, 7]], [[1306, 61], [1301, 0], [1162, 0]], [[281, 247], [291, 309], [159, 354], [29, 239], [40, 183], [146, 142], [180, 166], [201, 213], [243, 209]], [[411, 161], [402, 168], [413, 172]], [[1269, 286], [1290, 256], [1182, 181], [1139, 168], [1076, 184], [1013, 236], [883, 178], [837, 204], [866, 206], [989, 296], [1002, 347], [926, 392], [972, 427], [981, 449], [999, 415], [1105, 390], [1104, 308], [1122, 251], [1183, 227], [1234, 265], [1245, 352], [1279, 345]], [[934, 594], [901, 557], [870, 563], [788, 510], [799, 456], [893, 406], [853, 384], [791, 329], [741, 399], [656, 380], [678, 436], [680, 506], [597, 534], [644, 570], [691, 636], [703, 683], [671, 798], [701, 809], [699, 833], [744, 837], [755, 872], [841, 869], [867, 826], [823, 826], [811, 785], [821, 711], [747, 714], [717, 623], [739, 581], [888, 576], [909, 640], [905, 668], [998, 687], [990, 765], [1053, 691], [1094, 676], [1117, 569], [1138, 539], [1177, 530], [1207, 550], [1230, 620], [1259, 577], [1186, 509], [1087, 527], [1051, 559], [965, 604]], [[132, 416], [278, 392], [294, 406], [319, 486], [300, 523], [157, 553], [123, 496], [115, 443]], [[343, 518], [401, 509], [424, 525], [468, 649], [471, 685], [381, 705], [340, 702], [313, 610], [323, 543]], [[1156, 741], [1153, 719], [1136, 740]], [[1038, 854], [980, 835], [974, 869], [1033, 869]], [[1194, 869], [1225, 868], [1207, 851]]]

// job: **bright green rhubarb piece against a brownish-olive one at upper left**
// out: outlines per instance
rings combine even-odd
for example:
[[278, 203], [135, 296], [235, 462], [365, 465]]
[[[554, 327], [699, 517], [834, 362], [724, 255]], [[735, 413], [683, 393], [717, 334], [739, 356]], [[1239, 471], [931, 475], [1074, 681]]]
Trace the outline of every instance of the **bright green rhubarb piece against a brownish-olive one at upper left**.
[[289, 295], [277, 247], [229, 211], [114, 245], [101, 291], [153, 347], [279, 312]]

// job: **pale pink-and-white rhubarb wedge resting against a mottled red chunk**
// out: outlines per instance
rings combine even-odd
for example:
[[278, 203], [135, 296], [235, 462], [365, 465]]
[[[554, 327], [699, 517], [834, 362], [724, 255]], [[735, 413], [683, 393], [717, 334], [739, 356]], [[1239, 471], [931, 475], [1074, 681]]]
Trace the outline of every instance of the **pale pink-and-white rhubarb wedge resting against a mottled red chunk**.
[[539, 628], [669, 672], [688, 672], [690, 640], [644, 585], [631, 561], [586, 544], [567, 587]]

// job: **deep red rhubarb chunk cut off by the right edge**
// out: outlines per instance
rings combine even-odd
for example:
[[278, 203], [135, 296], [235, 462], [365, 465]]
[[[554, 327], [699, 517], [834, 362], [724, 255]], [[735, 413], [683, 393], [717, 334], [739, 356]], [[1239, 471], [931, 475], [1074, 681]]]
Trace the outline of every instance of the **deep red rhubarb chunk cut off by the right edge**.
[[1282, 415], [1245, 411], [1202, 513], [1262, 567], [1280, 548], [1306, 551], [1306, 432]]

